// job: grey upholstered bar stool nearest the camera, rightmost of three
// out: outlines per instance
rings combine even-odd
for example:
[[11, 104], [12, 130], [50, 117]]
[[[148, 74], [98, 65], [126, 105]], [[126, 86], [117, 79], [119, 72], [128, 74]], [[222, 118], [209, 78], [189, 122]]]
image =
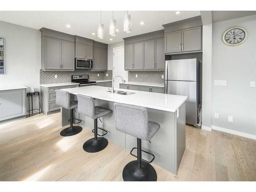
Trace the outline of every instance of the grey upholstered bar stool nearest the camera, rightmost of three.
[[[137, 157], [136, 161], [131, 161], [123, 168], [124, 181], [157, 181], [157, 173], [150, 164], [155, 159], [152, 153], [141, 150], [141, 139], [150, 139], [159, 130], [160, 125], [148, 121], [147, 109], [141, 106], [114, 103], [115, 127], [116, 130], [137, 138], [137, 147], [134, 147], [130, 154]], [[137, 148], [137, 156], [132, 152]], [[141, 152], [153, 156], [151, 161], [141, 158]]]

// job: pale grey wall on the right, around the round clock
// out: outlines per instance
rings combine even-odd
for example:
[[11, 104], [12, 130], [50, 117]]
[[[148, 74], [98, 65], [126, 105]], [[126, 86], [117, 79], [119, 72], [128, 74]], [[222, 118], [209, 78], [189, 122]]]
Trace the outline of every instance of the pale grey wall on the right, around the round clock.
[[[248, 32], [239, 46], [227, 46], [222, 34], [239, 26]], [[227, 87], [212, 86], [212, 125], [256, 135], [256, 15], [212, 24], [212, 85], [226, 80]], [[219, 113], [219, 118], [214, 118]], [[228, 115], [233, 122], [228, 122]]]

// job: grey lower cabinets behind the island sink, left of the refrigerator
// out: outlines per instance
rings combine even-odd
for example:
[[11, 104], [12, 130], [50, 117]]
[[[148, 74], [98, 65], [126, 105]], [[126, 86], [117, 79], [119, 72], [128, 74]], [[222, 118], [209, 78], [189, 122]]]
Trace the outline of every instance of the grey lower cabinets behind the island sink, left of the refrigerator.
[[140, 86], [134, 84], [119, 84], [120, 89], [128, 89], [128, 90], [136, 90], [136, 91], [145, 91], [145, 92], [153, 92], [153, 93], [164, 93], [163, 87], [152, 87], [152, 86]]

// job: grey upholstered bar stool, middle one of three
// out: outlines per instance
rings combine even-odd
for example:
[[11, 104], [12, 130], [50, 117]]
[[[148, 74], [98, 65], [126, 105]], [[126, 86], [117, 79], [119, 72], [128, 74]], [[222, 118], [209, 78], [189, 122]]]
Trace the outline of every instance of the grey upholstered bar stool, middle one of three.
[[[108, 146], [108, 140], [102, 136], [106, 135], [108, 132], [98, 127], [98, 118], [103, 117], [112, 113], [111, 110], [102, 108], [101, 106], [94, 106], [94, 101], [92, 97], [85, 95], [77, 95], [78, 100], [78, 112], [94, 119], [94, 138], [87, 140], [83, 144], [83, 150], [88, 153], [96, 153], [103, 150]], [[105, 132], [103, 135], [98, 134], [98, 129]], [[100, 137], [98, 137], [100, 136]]]

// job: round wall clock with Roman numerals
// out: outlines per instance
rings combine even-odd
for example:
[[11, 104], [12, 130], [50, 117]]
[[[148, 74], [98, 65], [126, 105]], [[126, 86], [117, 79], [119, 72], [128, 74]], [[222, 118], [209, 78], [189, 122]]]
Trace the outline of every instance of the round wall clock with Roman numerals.
[[247, 37], [247, 32], [241, 27], [232, 27], [223, 33], [222, 40], [228, 46], [238, 46], [242, 44]]

